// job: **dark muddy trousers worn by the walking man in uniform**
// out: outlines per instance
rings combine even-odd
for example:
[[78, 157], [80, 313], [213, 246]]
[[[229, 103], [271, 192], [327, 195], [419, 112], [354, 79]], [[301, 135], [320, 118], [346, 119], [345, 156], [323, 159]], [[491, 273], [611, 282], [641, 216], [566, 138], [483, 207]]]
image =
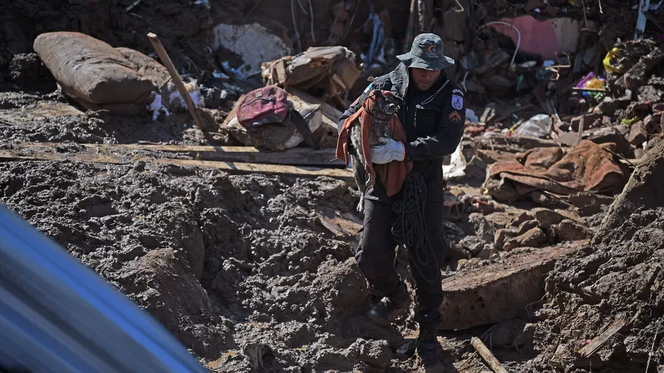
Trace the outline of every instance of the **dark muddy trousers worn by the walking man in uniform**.
[[[365, 199], [362, 239], [355, 252], [357, 265], [369, 284], [387, 297], [398, 292], [403, 282], [394, 263], [397, 243], [392, 236], [391, 227], [396, 217], [391, 203]], [[443, 203], [428, 202], [425, 205], [425, 217], [430, 249], [406, 247], [411, 273], [416, 281], [420, 325], [439, 324], [442, 321], [440, 266], [448, 251], [442, 225]]]

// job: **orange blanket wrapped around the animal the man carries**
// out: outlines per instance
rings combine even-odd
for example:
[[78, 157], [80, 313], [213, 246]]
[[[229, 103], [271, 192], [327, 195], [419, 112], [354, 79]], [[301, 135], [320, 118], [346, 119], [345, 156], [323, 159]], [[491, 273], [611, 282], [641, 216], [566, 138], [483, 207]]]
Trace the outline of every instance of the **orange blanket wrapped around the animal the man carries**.
[[[383, 95], [394, 96], [389, 90], [382, 91]], [[339, 138], [337, 142], [336, 158], [343, 160], [346, 165], [348, 165], [348, 144], [350, 143], [350, 127], [353, 122], [360, 120], [360, 129], [362, 136], [362, 149], [356, 149], [361, 151], [364, 155], [365, 160], [367, 160], [367, 165], [365, 168], [367, 172], [370, 173], [372, 179], [374, 179], [374, 172], [378, 172], [380, 177], [380, 182], [385, 186], [387, 191], [387, 196], [394, 196], [394, 194], [399, 193], [403, 183], [406, 182], [406, 177], [408, 177], [408, 171], [413, 168], [413, 162], [408, 161], [398, 161], [393, 160], [384, 165], [373, 165], [371, 162], [371, 150], [369, 144], [369, 129], [372, 122], [372, 115], [370, 114], [376, 105], [376, 97], [372, 94], [365, 102], [362, 102], [362, 107], [357, 110], [357, 112], [350, 117], [348, 117], [341, 126], [341, 131], [339, 132]], [[399, 121], [399, 118], [396, 117], [396, 114], [392, 116], [390, 126], [392, 129], [392, 138], [396, 141], [401, 141], [402, 143], [406, 141], [406, 131], [403, 129], [403, 124]], [[375, 171], [374, 171], [375, 167]], [[362, 186], [360, 186], [362, 187]]]

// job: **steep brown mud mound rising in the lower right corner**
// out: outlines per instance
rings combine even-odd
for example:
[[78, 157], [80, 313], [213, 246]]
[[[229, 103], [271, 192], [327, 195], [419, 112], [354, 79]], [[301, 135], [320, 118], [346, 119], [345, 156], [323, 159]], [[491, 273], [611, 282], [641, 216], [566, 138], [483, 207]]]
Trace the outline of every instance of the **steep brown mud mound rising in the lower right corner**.
[[632, 174], [590, 247], [556, 264], [540, 312], [539, 367], [644, 372], [650, 360], [648, 372], [664, 369], [663, 182], [660, 145]]

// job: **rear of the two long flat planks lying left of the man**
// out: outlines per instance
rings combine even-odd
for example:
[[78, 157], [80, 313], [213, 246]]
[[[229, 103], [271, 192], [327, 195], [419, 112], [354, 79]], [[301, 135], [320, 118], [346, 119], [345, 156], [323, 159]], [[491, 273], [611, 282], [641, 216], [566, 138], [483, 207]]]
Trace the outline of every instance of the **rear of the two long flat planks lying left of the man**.
[[[13, 143], [14, 148], [35, 149], [55, 148], [62, 143]], [[161, 144], [76, 144], [100, 153], [147, 150], [178, 153], [196, 160], [223, 160], [227, 162], [270, 163], [276, 165], [309, 165], [319, 167], [345, 167], [342, 160], [336, 159], [336, 149], [293, 148], [282, 152], [261, 150], [253, 146], [185, 146]]]

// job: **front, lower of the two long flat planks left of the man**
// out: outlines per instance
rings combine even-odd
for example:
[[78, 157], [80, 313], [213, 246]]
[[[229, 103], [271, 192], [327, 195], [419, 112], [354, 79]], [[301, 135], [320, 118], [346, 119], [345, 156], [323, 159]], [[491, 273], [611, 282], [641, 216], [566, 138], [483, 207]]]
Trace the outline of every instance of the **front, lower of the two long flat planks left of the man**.
[[0, 160], [47, 160], [57, 162], [90, 162], [90, 163], [110, 163], [115, 165], [127, 165], [132, 162], [156, 163], [161, 165], [176, 165], [189, 167], [207, 167], [217, 170], [224, 170], [229, 173], [261, 173], [261, 174], [279, 174], [299, 177], [333, 177], [342, 179], [345, 182], [353, 182], [353, 172], [348, 169], [321, 168], [321, 167], [296, 167], [291, 165], [262, 165], [245, 162], [217, 162], [212, 160], [181, 160], [171, 158], [149, 158], [143, 156], [132, 156], [123, 158], [118, 155], [94, 155], [94, 154], [76, 154], [64, 155], [61, 153], [32, 153], [21, 154], [15, 151], [0, 150]]

